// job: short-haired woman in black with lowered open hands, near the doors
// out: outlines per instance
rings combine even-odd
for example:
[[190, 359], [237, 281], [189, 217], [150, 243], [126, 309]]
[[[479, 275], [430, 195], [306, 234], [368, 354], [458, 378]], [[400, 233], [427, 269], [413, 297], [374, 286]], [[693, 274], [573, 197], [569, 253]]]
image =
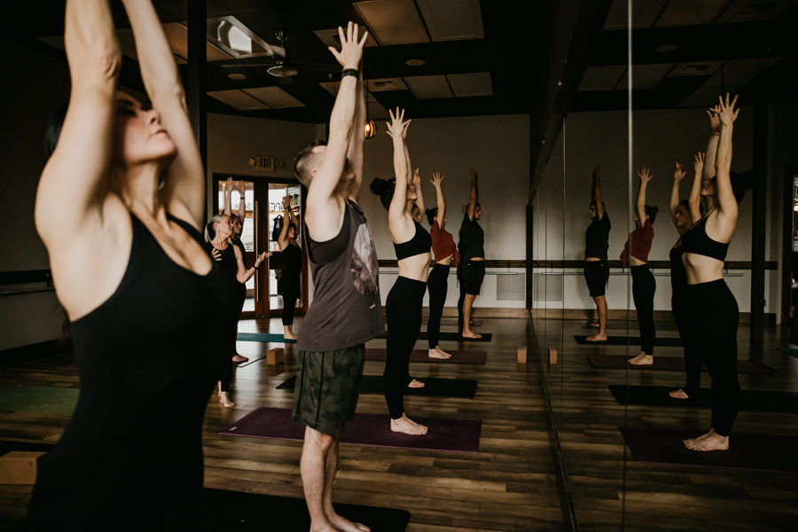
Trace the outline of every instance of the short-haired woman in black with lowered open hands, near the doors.
[[[238, 295], [238, 313], [234, 313], [234, 316], [223, 317], [223, 321], [228, 324], [223, 325], [223, 328], [227, 330], [227, 348], [230, 348], [231, 352], [233, 352], [236, 345], [236, 334], [239, 316], [241, 314], [241, 305], [243, 304], [241, 299], [244, 296], [244, 294], [241, 293], [240, 287], [244, 286], [246, 281], [252, 278], [255, 271], [261, 267], [261, 263], [265, 261], [266, 257], [270, 256], [271, 253], [263, 252], [260, 254], [255, 259], [254, 266], [247, 270], [244, 264], [244, 256], [241, 254], [239, 246], [232, 243], [233, 230], [230, 216], [215, 215], [207, 225], [209, 227], [205, 235], [205, 249], [209, 255], [220, 263], [224, 277], [231, 283], [231, 286], [236, 290]], [[211, 237], [211, 234], [214, 236]], [[232, 408], [235, 406], [235, 403], [232, 403], [230, 400], [232, 363], [233, 360], [231, 358], [226, 364], [223, 364], [222, 370], [219, 372], [221, 375], [219, 379], [219, 403], [222, 403], [225, 408]]]

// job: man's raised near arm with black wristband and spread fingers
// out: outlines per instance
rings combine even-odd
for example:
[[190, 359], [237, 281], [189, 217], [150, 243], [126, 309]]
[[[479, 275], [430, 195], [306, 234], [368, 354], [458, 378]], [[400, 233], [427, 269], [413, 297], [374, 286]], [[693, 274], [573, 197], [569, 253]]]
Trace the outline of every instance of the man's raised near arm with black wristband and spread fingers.
[[[336, 51], [330, 47], [332, 55], [345, 71], [357, 70], [368, 32], [364, 32], [363, 38], [358, 41], [357, 25], [349, 22], [346, 35], [341, 27], [338, 28], [338, 33], [341, 50]], [[344, 174], [350, 140], [354, 135], [359, 84], [359, 78], [353, 75], [344, 75], [340, 80], [338, 96], [335, 98], [335, 105], [332, 106], [330, 115], [330, 137], [324, 158], [308, 188], [305, 223], [310, 237], [320, 242], [332, 239], [340, 231], [344, 207], [341, 198], [335, 196], [335, 191]], [[351, 188], [348, 195], [351, 198]]]

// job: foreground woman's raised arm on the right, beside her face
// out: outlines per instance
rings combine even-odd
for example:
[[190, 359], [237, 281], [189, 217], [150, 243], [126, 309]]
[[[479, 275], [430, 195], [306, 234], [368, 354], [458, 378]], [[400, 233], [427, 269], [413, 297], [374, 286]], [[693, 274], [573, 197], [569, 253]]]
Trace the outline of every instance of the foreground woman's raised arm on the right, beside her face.
[[128, 13], [147, 95], [153, 100], [177, 146], [164, 176], [162, 198], [168, 211], [200, 228], [205, 219], [205, 168], [194, 138], [175, 58], [150, 0], [122, 0]]

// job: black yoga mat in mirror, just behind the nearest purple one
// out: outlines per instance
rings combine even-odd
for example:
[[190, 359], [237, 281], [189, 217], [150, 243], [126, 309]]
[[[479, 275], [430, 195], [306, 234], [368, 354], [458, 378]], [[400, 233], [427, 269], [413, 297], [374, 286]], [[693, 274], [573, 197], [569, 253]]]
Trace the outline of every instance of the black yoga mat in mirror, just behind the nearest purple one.
[[[700, 389], [698, 404], [692, 403], [692, 399], [674, 399], [668, 395], [669, 392], [675, 389], [678, 389], [678, 387], [624, 386], [622, 384], [611, 384], [609, 386], [610, 393], [612, 393], [618, 404], [709, 408], [712, 403], [708, 388]], [[741, 390], [739, 410], [798, 414], [798, 394], [771, 392], [770, 390]]]

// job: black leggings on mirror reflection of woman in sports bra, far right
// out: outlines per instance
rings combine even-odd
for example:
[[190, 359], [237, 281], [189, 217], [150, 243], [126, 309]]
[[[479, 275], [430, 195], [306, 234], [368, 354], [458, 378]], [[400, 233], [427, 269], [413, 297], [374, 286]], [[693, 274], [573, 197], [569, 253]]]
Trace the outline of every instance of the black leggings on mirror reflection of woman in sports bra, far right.
[[732, 432], [739, 410], [737, 326], [739, 308], [724, 279], [687, 286], [688, 328], [712, 379], [712, 427]]

